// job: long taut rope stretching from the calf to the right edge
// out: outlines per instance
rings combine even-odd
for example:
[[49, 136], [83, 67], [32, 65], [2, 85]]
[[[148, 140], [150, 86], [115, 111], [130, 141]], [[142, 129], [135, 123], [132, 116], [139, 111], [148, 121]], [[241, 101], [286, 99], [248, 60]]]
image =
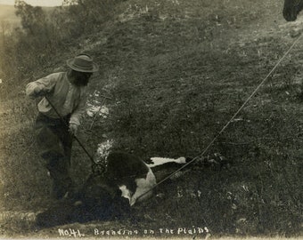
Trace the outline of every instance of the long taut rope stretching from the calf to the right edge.
[[280, 65], [280, 63], [284, 60], [284, 58], [291, 52], [291, 49], [295, 46], [295, 44], [297, 44], [299, 42], [299, 39], [302, 37], [303, 35], [299, 36], [294, 42], [293, 44], [291, 44], [291, 47], [289, 48], [289, 50], [287, 52], [285, 52], [283, 54], [283, 57], [277, 61], [277, 63], [274, 65], [274, 68], [272, 68], [272, 70], [266, 75], [266, 77], [261, 81], [260, 84], [258, 84], [257, 88], [250, 94], [249, 98], [247, 100], [244, 101], [244, 103], [242, 104], [242, 106], [235, 112], [235, 114], [232, 116], [232, 118], [227, 122], [227, 124], [225, 124], [225, 126], [221, 129], [220, 132], [217, 133], [217, 136], [215, 136], [215, 138], [213, 140], [211, 140], [209, 142], [209, 145], [204, 148], [204, 150], [201, 152], [200, 156], [196, 156], [194, 158], [192, 158], [192, 160], [186, 164], [184, 164], [182, 167], [180, 167], [179, 169], [177, 169], [175, 172], [172, 172], [168, 175], [168, 177], [164, 178], [163, 180], [160, 180], [156, 185], [154, 185], [152, 188], [150, 188], [148, 191], [144, 192], [142, 195], [138, 196], [137, 199], [140, 199], [142, 196], [146, 195], [147, 193], [151, 192], [151, 190], [153, 190], [154, 188], [157, 188], [161, 183], [163, 183], [164, 181], [170, 179], [172, 176], [174, 176], [177, 172], [180, 172], [181, 170], [183, 170], [185, 167], [187, 167], [188, 165], [192, 164], [193, 162], [195, 162], [197, 159], [199, 159], [201, 156], [203, 156], [211, 147], [211, 145], [217, 140], [217, 138], [222, 134], [222, 132], [225, 131], [225, 129], [228, 127], [229, 124], [231, 124], [233, 122], [233, 119], [235, 118], [235, 116], [237, 116], [241, 111], [242, 108], [245, 107], [245, 105], [250, 101], [250, 99], [256, 94], [256, 92], [258, 92], [258, 90], [260, 89], [260, 87], [266, 82], [267, 78], [269, 76], [272, 75], [272, 73], [274, 72], [274, 70]]

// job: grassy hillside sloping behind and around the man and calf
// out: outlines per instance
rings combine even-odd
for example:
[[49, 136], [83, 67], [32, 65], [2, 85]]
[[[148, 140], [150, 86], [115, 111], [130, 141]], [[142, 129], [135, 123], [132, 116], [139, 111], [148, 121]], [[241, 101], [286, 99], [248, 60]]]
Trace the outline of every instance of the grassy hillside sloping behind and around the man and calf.
[[[86, 117], [79, 138], [91, 153], [114, 140], [114, 148], [143, 159], [199, 156], [300, 36], [302, 23], [286, 23], [281, 10], [274, 0], [129, 0], [123, 14], [82, 36], [36, 76], [76, 52], [91, 52], [101, 70], [90, 84], [89, 102], [110, 109], [106, 118]], [[301, 43], [206, 153], [226, 156], [229, 167], [195, 166], [164, 182], [151, 201], [135, 207], [136, 221], [64, 228], [86, 236], [121, 228], [152, 237], [192, 238], [189, 230], [197, 228], [211, 236], [302, 235]], [[35, 103], [24, 95], [30, 80], [19, 80], [13, 90], [4, 87], [5, 79], [0, 85], [0, 191], [7, 212], [0, 231], [58, 236], [58, 228], [34, 232], [31, 225], [32, 212], [50, 204], [50, 180], [31, 128]], [[82, 184], [89, 172], [75, 143], [72, 177]], [[178, 228], [184, 229], [179, 235]]]

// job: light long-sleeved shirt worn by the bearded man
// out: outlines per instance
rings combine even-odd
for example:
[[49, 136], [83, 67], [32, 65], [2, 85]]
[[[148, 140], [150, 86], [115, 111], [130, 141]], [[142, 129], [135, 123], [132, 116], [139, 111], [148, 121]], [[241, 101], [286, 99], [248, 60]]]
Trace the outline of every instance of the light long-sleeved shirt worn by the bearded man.
[[[81, 115], [86, 110], [86, 86], [71, 84], [66, 72], [54, 73], [27, 84], [26, 94], [31, 99], [45, 94], [61, 116], [71, 114], [70, 124], [80, 124]], [[37, 107], [45, 116], [59, 118], [45, 97]]]

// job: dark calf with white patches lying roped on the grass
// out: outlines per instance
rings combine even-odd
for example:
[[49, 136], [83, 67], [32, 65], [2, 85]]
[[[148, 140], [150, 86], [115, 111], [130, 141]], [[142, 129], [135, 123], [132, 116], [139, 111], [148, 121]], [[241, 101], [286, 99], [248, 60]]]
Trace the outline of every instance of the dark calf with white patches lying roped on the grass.
[[[160, 172], [160, 166], [186, 164], [189, 160], [185, 157], [154, 157], [149, 163], [144, 163], [137, 156], [112, 152], [107, 157], [106, 172], [102, 175], [92, 174], [72, 197], [37, 214], [37, 227], [129, 217], [132, 205], [152, 195], [151, 190], [157, 183], [155, 175]], [[151, 171], [151, 168], [156, 171]], [[171, 172], [167, 173], [169, 175]], [[164, 177], [163, 174], [158, 175], [158, 180]]]

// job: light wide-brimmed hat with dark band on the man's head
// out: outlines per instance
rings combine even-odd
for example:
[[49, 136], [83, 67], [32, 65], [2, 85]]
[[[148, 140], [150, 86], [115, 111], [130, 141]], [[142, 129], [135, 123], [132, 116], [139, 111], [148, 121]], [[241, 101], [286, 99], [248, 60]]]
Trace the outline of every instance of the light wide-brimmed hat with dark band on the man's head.
[[67, 60], [68, 66], [78, 72], [94, 73], [98, 71], [98, 66], [88, 54], [78, 54], [75, 58]]

